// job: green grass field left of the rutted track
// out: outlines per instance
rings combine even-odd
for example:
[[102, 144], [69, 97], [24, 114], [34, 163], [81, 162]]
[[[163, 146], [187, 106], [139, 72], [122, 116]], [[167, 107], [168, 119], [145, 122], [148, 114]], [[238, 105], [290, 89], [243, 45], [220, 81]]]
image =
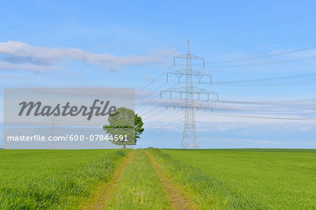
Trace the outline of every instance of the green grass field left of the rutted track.
[[0, 209], [75, 207], [126, 152], [1, 150]]

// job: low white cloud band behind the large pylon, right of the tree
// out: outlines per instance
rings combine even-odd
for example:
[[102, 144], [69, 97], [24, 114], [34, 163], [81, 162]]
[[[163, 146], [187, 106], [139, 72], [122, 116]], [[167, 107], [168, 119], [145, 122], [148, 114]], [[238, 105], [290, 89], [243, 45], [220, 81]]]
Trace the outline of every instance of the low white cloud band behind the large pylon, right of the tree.
[[[140, 109], [141, 110], [141, 109]], [[145, 127], [148, 130], [182, 130], [184, 123], [184, 111], [173, 111], [173, 109], [150, 109], [140, 112]], [[224, 132], [228, 130], [253, 130], [254, 128], [265, 130], [296, 130], [312, 131], [315, 129], [316, 120], [292, 120], [300, 119], [290, 113], [279, 116], [277, 114], [232, 114], [232, 113], [210, 113], [198, 111], [196, 113], [197, 127], [199, 132]]]

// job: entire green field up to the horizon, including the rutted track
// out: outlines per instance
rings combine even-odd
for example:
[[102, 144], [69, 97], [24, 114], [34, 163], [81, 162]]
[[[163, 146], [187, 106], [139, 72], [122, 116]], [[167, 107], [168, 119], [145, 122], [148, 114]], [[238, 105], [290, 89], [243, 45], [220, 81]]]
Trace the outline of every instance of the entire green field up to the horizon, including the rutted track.
[[0, 151], [0, 209], [315, 209], [315, 150]]

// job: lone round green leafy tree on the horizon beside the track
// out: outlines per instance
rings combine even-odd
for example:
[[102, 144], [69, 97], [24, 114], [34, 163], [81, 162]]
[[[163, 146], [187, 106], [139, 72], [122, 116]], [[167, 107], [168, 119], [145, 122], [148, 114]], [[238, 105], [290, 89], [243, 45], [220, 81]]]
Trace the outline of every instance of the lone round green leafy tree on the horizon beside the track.
[[[132, 109], [120, 107], [107, 118], [109, 125], [104, 125], [103, 130], [112, 135], [112, 144], [136, 145], [137, 139], [143, 133], [143, 120]], [[117, 139], [116, 139], [117, 137]], [[123, 139], [121, 139], [123, 137]]]

